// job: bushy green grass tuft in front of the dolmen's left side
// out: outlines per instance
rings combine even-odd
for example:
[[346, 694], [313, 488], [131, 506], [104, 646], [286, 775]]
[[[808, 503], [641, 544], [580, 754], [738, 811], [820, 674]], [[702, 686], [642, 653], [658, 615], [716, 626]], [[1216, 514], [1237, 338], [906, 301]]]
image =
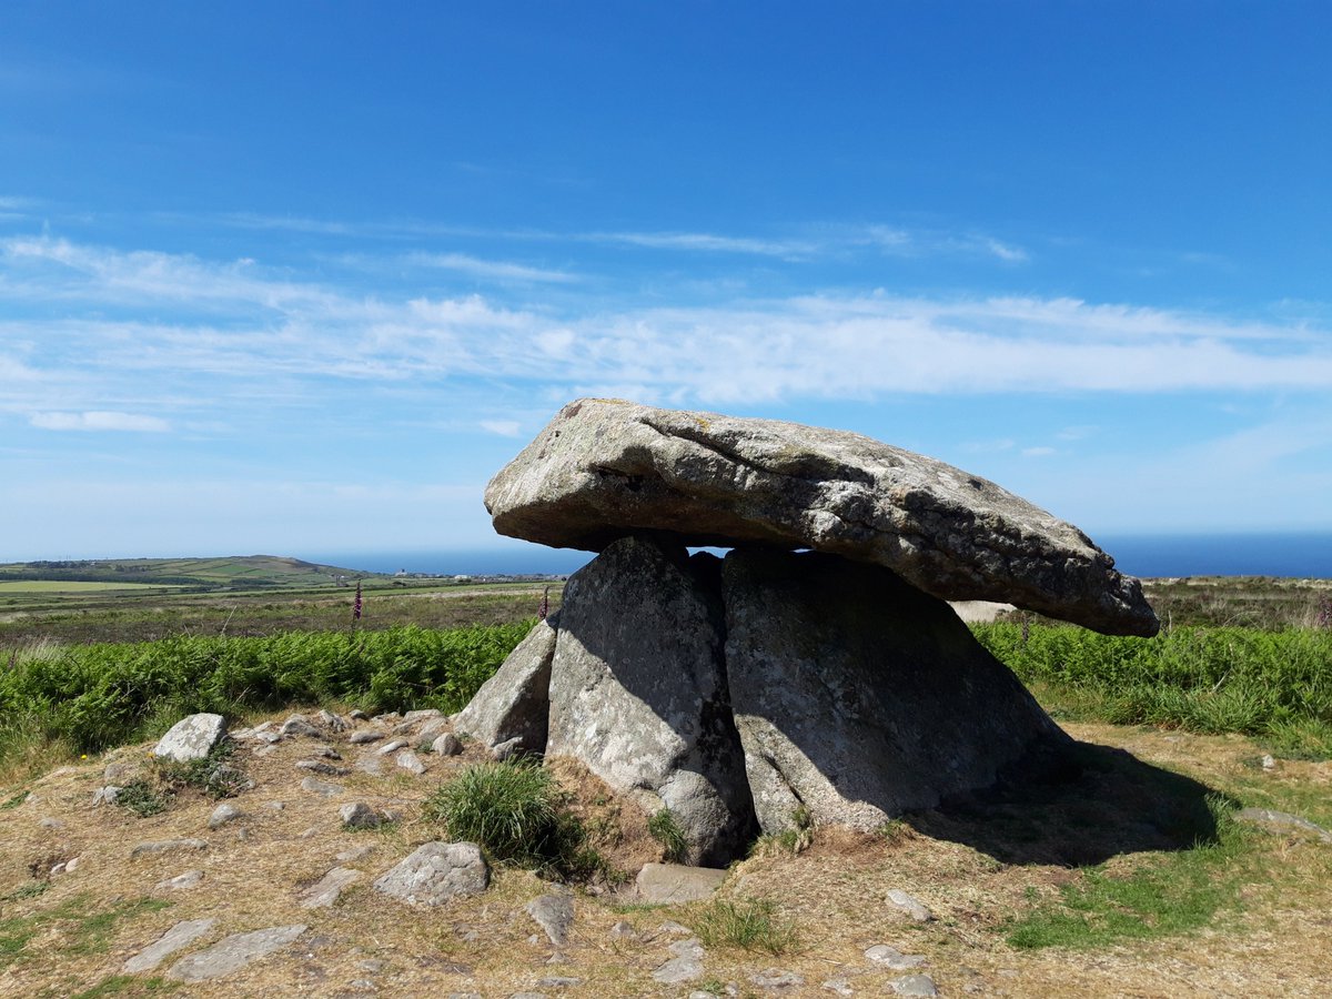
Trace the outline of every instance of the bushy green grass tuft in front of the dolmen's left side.
[[586, 879], [606, 862], [587, 846], [550, 771], [535, 762], [477, 763], [432, 794], [421, 809], [452, 839], [481, 846], [493, 859], [549, 875]]

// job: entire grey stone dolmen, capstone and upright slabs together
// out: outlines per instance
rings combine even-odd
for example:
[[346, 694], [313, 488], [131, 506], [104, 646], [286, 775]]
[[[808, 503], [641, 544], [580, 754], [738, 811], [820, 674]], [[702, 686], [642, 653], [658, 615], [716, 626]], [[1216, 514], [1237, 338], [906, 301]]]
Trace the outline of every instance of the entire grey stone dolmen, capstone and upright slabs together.
[[669, 809], [694, 863], [798, 813], [872, 829], [1067, 742], [946, 599], [1159, 627], [1072, 525], [839, 430], [579, 400], [486, 506], [503, 534], [601, 554], [458, 730]]

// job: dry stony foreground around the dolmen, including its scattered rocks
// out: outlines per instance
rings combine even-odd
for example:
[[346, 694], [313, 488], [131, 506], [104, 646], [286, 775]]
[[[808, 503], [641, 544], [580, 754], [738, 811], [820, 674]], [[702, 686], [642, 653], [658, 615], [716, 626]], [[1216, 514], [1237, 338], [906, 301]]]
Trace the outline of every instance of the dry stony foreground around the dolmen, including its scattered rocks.
[[[99, 791], [131, 785], [149, 746], [0, 791], [0, 994], [15, 996], [1325, 995], [1332, 844], [1271, 836], [1280, 883], [1211, 928], [1096, 951], [1016, 951], [1004, 920], [1074, 876], [1039, 851], [1018, 862], [964, 829], [916, 817], [887, 834], [815, 830], [769, 843], [699, 900], [662, 903], [633, 880], [558, 886], [505, 867], [474, 895], [412, 904], [376, 887], [444, 831], [425, 798], [481, 749], [442, 721], [309, 713], [237, 733], [241, 790], [181, 789], [139, 817]], [[1068, 726], [1079, 739], [1213, 786], [1332, 791], [1332, 765], [1253, 766], [1240, 738]], [[285, 730], [285, 733], [284, 733]], [[401, 745], [394, 746], [394, 742]], [[562, 774], [609, 859], [659, 859], [639, 817], [586, 774]], [[95, 798], [103, 803], [95, 805]], [[115, 797], [115, 793], [111, 795]], [[1259, 798], [1261, 795], [1259, 794]], [[360, 807], [357, 807], [360, 806]], [[1051, 815], [1054, 813], [1050, 813]], [[1032, 822], [1039, 835], [1044, 813]], [[1132, 817], [1128, 817], [1132, 819]], [[1054, 822], [1054, 819], [1051, 819]], [[959, 823], [962, 823], [959, 826]], [[1131, 829], [1126, 821], [1124, 830]], [[1008, 859], [999, 859], [1008, 856]], [[1111, 864], [1126, 862], [1112, 859]], [[649, 868], [649, 875], [665, 874]], [[393, 879], [389, 879], [390, 882]], [[401, 878], [400, 878], [401, 882]], [[717, 902], [771, 902], [787, 935], [754, 950], [699, 932]], [[713, 920], [713, 922], [710, 922]], [[705, 942], [705, 938], [707, 942]], [[773, 954], [762, 944], [777, 943]]]

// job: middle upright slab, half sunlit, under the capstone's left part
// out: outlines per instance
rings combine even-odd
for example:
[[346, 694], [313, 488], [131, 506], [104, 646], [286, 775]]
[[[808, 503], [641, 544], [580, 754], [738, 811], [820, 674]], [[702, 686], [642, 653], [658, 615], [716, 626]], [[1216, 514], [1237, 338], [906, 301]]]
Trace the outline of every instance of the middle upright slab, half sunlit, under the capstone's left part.
[[574, 757], [649, 813], [671, 811], [691, 863], [726, 863], [753, 827], [727, 703], [717, 559], [627, 537], [565, 587], [549, 757]]

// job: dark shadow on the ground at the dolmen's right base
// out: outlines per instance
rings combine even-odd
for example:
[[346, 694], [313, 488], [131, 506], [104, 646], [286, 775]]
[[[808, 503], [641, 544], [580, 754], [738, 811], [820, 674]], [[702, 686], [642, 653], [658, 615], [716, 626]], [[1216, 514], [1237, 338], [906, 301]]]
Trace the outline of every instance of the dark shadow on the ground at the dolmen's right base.
[[1217, 839], [1213, 805], [1228, 799], [1126, 750], [1044, 745], [999, 782], [907, 813], [918, 832], [1010, 864], [1075, 867], [1144, 850], [1188, 850]]

